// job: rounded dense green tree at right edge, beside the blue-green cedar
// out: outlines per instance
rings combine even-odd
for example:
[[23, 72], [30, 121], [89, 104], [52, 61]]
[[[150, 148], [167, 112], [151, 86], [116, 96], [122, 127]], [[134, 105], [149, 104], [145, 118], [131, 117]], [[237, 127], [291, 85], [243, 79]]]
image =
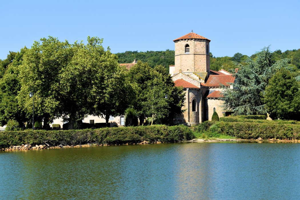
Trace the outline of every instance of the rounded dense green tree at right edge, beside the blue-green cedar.
[[280, 69], [265, 88], [264, 101], [272, 119], [300, 120], [300, 84], [286, 69]]

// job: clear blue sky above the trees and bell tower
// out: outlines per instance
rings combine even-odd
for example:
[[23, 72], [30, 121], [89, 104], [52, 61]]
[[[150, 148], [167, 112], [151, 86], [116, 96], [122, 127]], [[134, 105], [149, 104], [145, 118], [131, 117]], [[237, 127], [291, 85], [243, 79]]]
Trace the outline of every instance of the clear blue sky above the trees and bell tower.
[[174, 49], [195, 33], [214, 56], [300, 48], [300, 1], [2, 1], [0, 59], [51, 35], [59, 40], [104, 38], [113, 53]]

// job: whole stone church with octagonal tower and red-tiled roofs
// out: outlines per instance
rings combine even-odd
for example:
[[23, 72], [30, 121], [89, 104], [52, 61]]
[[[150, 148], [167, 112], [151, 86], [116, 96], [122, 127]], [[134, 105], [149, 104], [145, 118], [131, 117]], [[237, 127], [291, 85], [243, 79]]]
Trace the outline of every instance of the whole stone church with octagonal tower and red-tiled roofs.
[[228, 115], [222, 109], [222, 85], [234, 82], [226, 70], [210, 70], [209, 43], [211, 40], [196, 33], [188, 33], [173, 40], [175, 65], [170, 65], [170, 74], [176, 86], [185, 92], [184, 112], [177, 115], [175, 123], [196, 125], [211, 120], [214, 111], [219, 117]]

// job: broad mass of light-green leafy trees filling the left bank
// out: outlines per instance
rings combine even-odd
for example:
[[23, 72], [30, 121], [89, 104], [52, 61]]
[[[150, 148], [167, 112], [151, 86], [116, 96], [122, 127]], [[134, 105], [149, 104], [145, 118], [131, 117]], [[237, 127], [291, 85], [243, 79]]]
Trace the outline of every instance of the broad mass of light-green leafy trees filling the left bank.
[[11, 52], [9, 62], [1, 61], [5, 68], [0, 80], [1, 125], [9, 119], [23, 124], [26, 117], [30, 118], [30, 91], [35, 94], [34, 117], [45, 125], [63, 117], [73, 129], [74, 123], [88, 114], [103, 116], [107, 121], [110, 115], [123, 114], [135, 93], [126, 79], [127, 71], [110, 49], [103, 48], [102, 41], [88, 37], [87, 44], [69, 44], [49, 37], [35, 41], [31, 49], [21, 50], [14, 59]]

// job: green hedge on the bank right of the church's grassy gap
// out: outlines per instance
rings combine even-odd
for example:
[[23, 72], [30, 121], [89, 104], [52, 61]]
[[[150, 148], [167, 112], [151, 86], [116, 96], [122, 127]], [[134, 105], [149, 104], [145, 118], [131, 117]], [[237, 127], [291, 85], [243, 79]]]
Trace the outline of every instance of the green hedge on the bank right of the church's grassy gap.
[[[198, 138], [240, 138], [240, 139], [300, 139], [300, 122], [284, 120], [245, 119], [224, 117], [221, 121], [205, 121], [195, 131]], [[228, 138], [230, 139], [230, 138]]]

